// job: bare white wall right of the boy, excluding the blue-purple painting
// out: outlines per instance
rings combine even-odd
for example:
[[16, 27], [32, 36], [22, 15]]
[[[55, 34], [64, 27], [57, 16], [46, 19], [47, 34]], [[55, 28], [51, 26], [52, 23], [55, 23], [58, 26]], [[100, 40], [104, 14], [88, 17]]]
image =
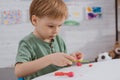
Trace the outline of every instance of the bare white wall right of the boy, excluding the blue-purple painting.
[[114, 0], [81, 0], [80, 3], [81, 8], [101, 6], [102, 18], [96, 20], [83, 18], [79, 26], [63, 27], [62, 35], [69, 53], [81, 51], [85, 54], [85, 59], [93, 61], [99, 53], [112, 49], [115, 43]]

